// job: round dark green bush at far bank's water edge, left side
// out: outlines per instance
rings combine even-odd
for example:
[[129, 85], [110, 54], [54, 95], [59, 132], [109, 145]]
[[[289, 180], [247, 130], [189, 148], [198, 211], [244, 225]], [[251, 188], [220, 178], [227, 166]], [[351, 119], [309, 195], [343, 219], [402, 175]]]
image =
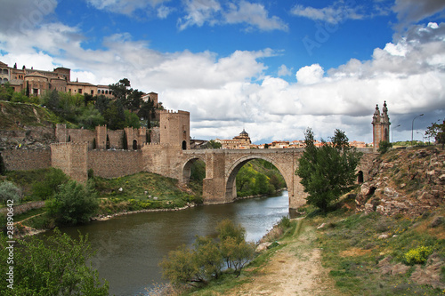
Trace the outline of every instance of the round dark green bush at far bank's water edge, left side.
[[99, 209], [97, 193], [88, 181], [86, 187], [74, 180], [61, 185], [53, 199], [46, 202], [49, 217], [58, 225], [86, 223]]

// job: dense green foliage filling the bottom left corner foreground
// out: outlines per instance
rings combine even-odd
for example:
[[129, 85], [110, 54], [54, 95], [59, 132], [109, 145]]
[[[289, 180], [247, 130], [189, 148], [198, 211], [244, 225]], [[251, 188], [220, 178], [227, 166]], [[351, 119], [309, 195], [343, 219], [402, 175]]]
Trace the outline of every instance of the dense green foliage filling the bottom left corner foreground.
[[[36, 236], [18, 240], [13, 246], [13, 265], [6, 264], [10, 246], [0, 237], [0, 294], [2, 295], [108, 295], [109, 284], [101, 284], [97, 270], [86, 265], [93, 257], [87, 236], [72, 239], [57, 229], [42, 240]], [[13, 290], [8, 287], [13, 266]]]

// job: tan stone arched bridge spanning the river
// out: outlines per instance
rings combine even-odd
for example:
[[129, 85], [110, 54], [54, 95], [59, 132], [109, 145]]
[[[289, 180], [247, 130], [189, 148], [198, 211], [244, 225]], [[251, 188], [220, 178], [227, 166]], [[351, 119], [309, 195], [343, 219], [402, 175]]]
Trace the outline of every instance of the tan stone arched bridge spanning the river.
[[[306, 203], [300, 178], [295, 175], [298, 158], [303, 148], [282, 149], [189, 149], [169, 150], [162, 145], [147, 148], [144, 153], [144, 171], [180, 180], [187, 183], [190, 179], [190, 168], [197, 160], [206, 164], [206, 179], [203, 182], [205, 204], [231, 203], [237, 196], [236, 176], [239, 169], [253, 159], [263, 159], [273, 164], [286, 180], [289, 196], [289, 208], [297, 209]], [[376, 154], [372, 149], [360, 149], [364, 152], [357, 171], [360, 181], [368, 178], [368, 170]]]

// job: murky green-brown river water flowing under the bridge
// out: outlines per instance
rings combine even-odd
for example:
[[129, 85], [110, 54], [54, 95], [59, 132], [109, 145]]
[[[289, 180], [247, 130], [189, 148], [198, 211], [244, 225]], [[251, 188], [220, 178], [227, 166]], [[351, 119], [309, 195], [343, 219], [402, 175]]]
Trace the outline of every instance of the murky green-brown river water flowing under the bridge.
[[110, 295], [146, 295], [145, 288], [166, 281], [158, 263], [179, 245], [191, 245], [195, 236], [214, 236], [216, 224], [231, 219], [257, 242], [283, 216], [288, 215], [287, 191], [279, 196], [240, 200], [232, 204], [204, 205], [177, 212], [142, 212], [94, 221], [76, 228], [61, 228], [77, 237], [88, 234], [92, 260], [100, 278], [109, 281]]

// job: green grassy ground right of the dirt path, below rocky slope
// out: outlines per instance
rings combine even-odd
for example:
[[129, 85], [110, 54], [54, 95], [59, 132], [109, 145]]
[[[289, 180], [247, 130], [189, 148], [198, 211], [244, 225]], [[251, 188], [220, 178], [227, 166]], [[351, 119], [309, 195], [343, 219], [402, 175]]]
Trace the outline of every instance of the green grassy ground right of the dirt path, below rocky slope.
[[408, 268], [405, 274], [388, 275], [381, 272], [378, 263], [389, 257], [392, 265], [404, 264], [405, 254], [419, 246], [431, 247], [441, 260], [445, 259], [443, 224], [429, 228], [433, 216], [445, 214], [445, 209], [417, 219], [388, 217], [376, 212], [338, 214], [339, 211], [330, 212], [326, 217], [314, 215], [307, 222], [313, 227], [321, 223], [328, 225], [317, 231], [316, 243], [323, 249], [322, 264], [330, 269], [329, 276], [334, 278], [340, 292], [346, 295], [444, 294], [438, 288], [414, 283], [409, 278], [414, 267]]

